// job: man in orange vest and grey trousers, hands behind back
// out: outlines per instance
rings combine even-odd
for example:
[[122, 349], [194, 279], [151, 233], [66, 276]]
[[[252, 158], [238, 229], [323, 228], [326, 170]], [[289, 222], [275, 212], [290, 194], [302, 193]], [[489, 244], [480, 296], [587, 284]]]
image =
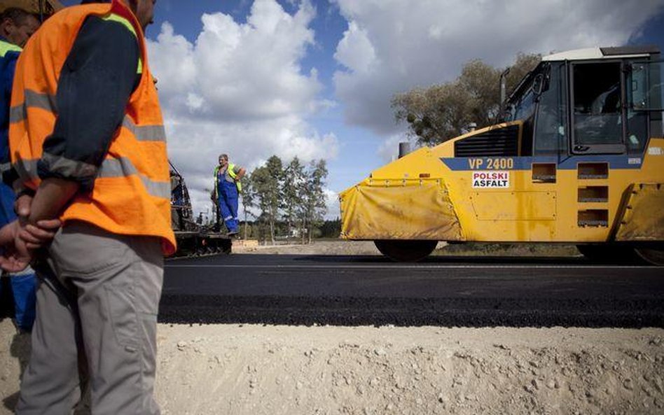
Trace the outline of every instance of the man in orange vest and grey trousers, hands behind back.
[[16, 414], [71, 413], [83, 354], [93, 414], [159, 414], [157, 311], [163, 255], [176, 246], [144, 38], [154, 0], [85, 3], [46, 20], [16, 64], [13, 188], [32, 197], [20, 225], [62, 220], [33, 262], [36, 320]]

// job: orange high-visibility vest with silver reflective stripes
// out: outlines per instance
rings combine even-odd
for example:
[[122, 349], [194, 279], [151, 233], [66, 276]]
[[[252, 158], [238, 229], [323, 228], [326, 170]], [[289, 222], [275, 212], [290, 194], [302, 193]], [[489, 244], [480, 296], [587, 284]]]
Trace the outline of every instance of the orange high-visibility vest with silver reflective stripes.
[[141, 80], [97, 171], [92, 192], [76, 195], [60, 219], [65, 223], [82, 220], [114, 234], [161, 237], [162, 250], [170, 255], [176, 244], [157, 90], [141, 27], [131, 10], [117, 0], [65, 8], [46, 20], [25, 45], [16, 64], [10, 110], [11, 162], [20, 177], [14, 187], [36, 190], [39, 186], [37, 162], [43, 142], [55, 127], [60, 71], [90, 15], [115, 20], [136, 35], [142, 57], [137, 70], [142, 72]]

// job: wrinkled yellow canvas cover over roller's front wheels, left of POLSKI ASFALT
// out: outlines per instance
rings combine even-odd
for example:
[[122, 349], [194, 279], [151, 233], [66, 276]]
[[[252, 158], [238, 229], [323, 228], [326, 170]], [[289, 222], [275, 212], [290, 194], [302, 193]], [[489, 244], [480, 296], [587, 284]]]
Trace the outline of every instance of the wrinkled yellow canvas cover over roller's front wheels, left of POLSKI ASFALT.
[[365, 181], [341, 193], [345, 239], [462, 240], [442, 180]]

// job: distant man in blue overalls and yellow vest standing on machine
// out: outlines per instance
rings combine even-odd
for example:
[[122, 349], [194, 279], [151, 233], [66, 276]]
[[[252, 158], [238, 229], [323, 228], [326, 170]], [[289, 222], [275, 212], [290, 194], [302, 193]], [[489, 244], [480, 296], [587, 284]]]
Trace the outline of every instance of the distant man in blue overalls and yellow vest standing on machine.
[[228, 236], [240, 232], [237, 220], [237, 200], [242, 192], [240, 180], [246, 171], [228, 162], [228, 155], [219, 155], [219, 165], [214, 168], [214, 200], [219, 206], [218, 218], [221, 215], [228, 229]]

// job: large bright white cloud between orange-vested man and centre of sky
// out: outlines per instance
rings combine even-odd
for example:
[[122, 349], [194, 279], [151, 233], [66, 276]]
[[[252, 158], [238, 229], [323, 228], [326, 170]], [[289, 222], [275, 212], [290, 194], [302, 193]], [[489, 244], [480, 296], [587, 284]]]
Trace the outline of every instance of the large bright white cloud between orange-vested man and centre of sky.
[[314, 43], [314, 16], [307, 0], [293, 15], [275, 0], [256, 0], [246, 23], [223, 13], [202, 15], [194, 43], [169, 23], [148, 41], [169, 155], [195, 211], [209, 205], [205, 189], [212, 188], [219, 153], [248, 170], [271, 155], [305, 162], [336, 157], [335, 134], [307, 123], [307, 116], [334, 105], [319, 97], [317, 70], [303, 73], [300, 66]]

